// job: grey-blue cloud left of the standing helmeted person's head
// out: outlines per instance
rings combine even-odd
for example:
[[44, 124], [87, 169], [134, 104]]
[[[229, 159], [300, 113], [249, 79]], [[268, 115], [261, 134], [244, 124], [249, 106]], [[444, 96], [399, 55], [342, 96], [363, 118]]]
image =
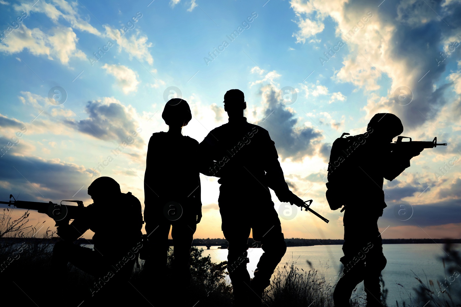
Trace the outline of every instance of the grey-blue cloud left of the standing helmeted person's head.
[[[115, 98], [105, 97], [89, 101], [85, 112], [88, 113], [88, 118], [80, 121], [65, 119], [64, 123], [97, 139], [111, 140], [119, 144], [131, 143], [132, 133], [136, 133], [136, 127], [139, 126], [136, 110], [130, 105], [124, 106]], [[134, 145], [141, 148], [144, 141], [137, 138]]]

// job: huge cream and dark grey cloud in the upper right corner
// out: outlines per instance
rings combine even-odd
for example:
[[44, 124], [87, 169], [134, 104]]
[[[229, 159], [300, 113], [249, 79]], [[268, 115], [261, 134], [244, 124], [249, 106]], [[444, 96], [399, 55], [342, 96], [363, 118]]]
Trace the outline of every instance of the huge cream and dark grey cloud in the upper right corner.
[[[439, 78], [449, 61], [437, 63], [435, 59], [444, 48], [441, 45], [454, 39], [461, 29], [457, 18], [461, 8], [455, 2], [444, 2], [443, 6], [433, 2], [429, 7], [424, 2], [402, 0], [398, 6], [380, 6], [379, 12], [363, 0], [291, 0], [290, 4], [296, 16], [311, 14], [315, 7], [318, 14], [313, 22], [327, 18], [337, 23], [336, 36], [347, 44], [349, 53], [343, 53], [342, 67], [335, 70], [334, 80], [372, 92], [364, 107], [367, 118], [388, 111], [399, 116], [406, 127], [415, 128], [434, 119], [446, 104], [444, 93], [449, 85]], [[299, 28], [309, 31], [301, 24]], [[312, 25], [312, 29], [319, 27]], [[354, 33], [352, 37], [343, 35], [349, 31]], [[383, 96], [381, 86], [387, 88]], [[412, 103], [406, 106], [394, 100], [394, 93], [402, 86], [413, 93]]]

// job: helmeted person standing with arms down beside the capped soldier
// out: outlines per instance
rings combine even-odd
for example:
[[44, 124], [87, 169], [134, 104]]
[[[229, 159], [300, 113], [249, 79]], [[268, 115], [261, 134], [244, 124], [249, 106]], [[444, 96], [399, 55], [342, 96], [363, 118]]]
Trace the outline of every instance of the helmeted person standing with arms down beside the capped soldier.
[[202, 216], [200, 173], [196, 161], [199, 143], [181, 133], [182, 127], [192, 119], [187, 101], [180, 98], [169, 100], [162, 118], [169, 129], [168, 132], [152, 134], [144, 176], [144, 220], [150, 242], [145, 268], [155, 270], [152, 274], [165, 276], [171, 228], [174, 282], [185, 287], [191, 278], [190, 246]]

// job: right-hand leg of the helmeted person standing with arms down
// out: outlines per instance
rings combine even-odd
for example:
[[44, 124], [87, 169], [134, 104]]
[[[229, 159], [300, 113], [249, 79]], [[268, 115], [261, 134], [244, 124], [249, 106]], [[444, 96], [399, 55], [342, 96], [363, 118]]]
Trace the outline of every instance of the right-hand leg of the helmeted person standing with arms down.
[[179, 220], [173, 222], [171, 237], [173, 238], [174, 248], [174, 272], [175, 280], [179, 287], [190, 285], [190, 246], [194, 240], [194, 232], [197, 228], [195, 219], [182, 216]]

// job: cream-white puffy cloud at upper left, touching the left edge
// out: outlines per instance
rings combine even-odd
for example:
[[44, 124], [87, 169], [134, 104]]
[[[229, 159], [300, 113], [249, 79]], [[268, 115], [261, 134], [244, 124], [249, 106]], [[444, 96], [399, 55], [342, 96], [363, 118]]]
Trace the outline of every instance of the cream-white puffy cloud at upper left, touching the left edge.
[[29, 29], [23, 23], [0, 43], [0, 52], [12, 54], [29, 50], [35, 56], [46, 55], [48, 59], [58, 58], [62, 64], [68, 64], [70, 58], [86, 59], [77, 49], [78, 38], [72, 28], [54, 28], [50, 34], [38, 28]]

